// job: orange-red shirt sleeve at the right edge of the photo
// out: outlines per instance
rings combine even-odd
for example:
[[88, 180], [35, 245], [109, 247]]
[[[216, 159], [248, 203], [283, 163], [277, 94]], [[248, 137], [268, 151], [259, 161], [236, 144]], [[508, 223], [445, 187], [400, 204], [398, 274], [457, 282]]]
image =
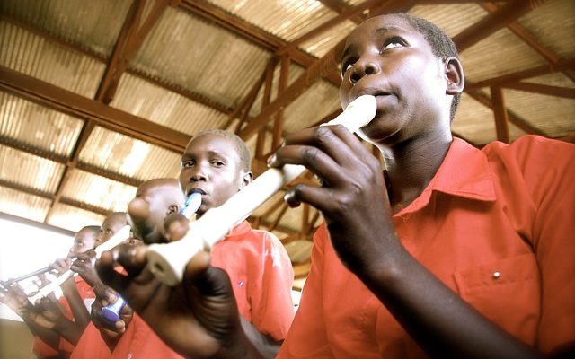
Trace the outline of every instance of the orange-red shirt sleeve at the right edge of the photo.
[[537, 346], [549, 353], [575, 340], [575, 145], [529, 136], [516, 151], [536, 206], [532, 245], [542, 283]]

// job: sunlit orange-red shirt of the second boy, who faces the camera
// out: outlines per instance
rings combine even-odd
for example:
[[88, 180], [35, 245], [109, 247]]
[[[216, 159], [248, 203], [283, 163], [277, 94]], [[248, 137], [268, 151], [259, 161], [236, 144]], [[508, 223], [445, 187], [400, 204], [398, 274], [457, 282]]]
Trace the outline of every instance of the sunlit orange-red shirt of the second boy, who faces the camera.
[[283, 340], [294, 319], [294, 269], [279, 239], [243, 221], [214, 246], [211, 256], [212, 264], [230, 276], [240, 314], [261, 332]]

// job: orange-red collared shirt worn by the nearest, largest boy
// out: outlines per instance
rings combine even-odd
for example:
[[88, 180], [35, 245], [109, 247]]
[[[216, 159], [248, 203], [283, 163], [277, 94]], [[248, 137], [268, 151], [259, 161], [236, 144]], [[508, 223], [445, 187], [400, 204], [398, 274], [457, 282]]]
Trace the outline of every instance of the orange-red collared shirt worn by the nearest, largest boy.
[[[481, 151], [454, 139], [420, 197], [394, 215], [403, 246], [501, 328], [549, 352], [575, 340], [575, 146], [539, 136]], [[422, 288], [422, 290], [424, 290]], [[279, 358], [427, 357], [323, 225]]]

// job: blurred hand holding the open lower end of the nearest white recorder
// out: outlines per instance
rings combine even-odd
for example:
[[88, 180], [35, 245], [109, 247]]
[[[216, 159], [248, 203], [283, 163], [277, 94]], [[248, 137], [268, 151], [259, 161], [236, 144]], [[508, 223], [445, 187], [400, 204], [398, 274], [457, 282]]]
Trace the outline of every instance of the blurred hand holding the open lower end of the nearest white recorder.
[[96, 263], [102, 281], [111, 285], [146, 320], [150, 328], [181, 355], [196, 358], [245, 357], [252, 345], [243, 329], [226, 273], [209, 266], [208, 253], [190, 261], [180, 285], [158, 281], [146, 267], [146, 246], [124, 247], [113, 267], [111, 252]]

